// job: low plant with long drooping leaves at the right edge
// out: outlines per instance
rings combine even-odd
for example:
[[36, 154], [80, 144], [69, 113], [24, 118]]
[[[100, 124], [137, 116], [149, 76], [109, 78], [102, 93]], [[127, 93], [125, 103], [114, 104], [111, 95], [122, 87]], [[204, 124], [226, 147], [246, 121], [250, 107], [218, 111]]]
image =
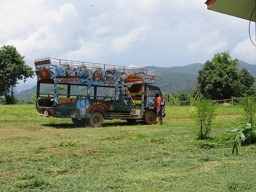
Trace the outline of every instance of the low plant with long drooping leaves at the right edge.
[[231, 128], [226, 132], [233, 133], [234, 135], [232, 154], [235, 152], [235, 150], [236, 154], [238, 154], [238, 146], [241, 144], [249, 145], [256, 143], [256, 127], [253, 124], [244, 122], [244, 125]]

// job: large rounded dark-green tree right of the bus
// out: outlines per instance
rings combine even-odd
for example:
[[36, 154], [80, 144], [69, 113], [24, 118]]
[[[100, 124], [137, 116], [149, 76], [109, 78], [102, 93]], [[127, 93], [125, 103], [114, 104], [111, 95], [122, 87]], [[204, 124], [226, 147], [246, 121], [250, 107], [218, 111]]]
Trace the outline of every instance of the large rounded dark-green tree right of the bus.
[[238, 60], [230, 52], [220, 52], [204, 63], [198, 71], [201, 93], [208, 99], [230, 99], [255, 90], [255, 79], [247, 69], [238, 68]]

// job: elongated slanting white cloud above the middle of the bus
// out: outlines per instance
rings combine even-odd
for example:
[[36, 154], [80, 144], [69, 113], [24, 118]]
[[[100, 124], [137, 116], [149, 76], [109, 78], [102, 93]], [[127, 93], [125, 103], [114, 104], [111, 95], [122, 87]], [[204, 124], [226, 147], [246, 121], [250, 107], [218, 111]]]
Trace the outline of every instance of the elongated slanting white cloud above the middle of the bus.
[[131, 32], [125, 35], [115, 37], [111, 42], [111, 50], [116, 54], [124, 52], [132, 43], [141, 37], [144, 31], [145, 27], [141, 26], [132, 29]]

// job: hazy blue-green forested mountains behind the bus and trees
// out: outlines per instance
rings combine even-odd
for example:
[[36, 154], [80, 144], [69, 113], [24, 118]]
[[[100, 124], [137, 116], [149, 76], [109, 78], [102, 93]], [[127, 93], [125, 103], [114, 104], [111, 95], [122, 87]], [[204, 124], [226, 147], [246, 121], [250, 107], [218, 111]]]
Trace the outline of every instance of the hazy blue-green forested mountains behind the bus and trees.
[[[156, 85], [158, 85], [163, 92], [190, 93], [190, 91], [197, 85], [198, 70], [202, 65], [202, 63], [194, 63], [181, 67], [146, 66], [143, 68], [157, 71]], [[256, 77], [256, 65], [239, 61], [239, 68], [246, 68], [254, 77]], [[49, 87], [45, 87], [44, 89], [48, 89], [48, 92], [51, 91]], [[28, 101], [35, 93], [36, 85], [30, 89], [23, 90], [20, 93], [17, 93], [16, 91], [15, 97], [19, 100]]]

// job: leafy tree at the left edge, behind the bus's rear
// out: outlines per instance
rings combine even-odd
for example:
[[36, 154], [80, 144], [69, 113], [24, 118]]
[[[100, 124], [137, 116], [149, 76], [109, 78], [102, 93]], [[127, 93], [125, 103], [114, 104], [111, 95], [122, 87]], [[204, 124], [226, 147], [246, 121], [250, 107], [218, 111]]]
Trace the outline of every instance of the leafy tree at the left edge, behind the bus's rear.
[[[26, 81], [34, 76], [32, 67], [24, 61], [17, 49], [13, 46], [0, 47], [0, 96], [5, 96], [6, 104], [15, 102], [13, 87], [18, 80]], [[9, 95], [11, 93], [11, 95]]]

